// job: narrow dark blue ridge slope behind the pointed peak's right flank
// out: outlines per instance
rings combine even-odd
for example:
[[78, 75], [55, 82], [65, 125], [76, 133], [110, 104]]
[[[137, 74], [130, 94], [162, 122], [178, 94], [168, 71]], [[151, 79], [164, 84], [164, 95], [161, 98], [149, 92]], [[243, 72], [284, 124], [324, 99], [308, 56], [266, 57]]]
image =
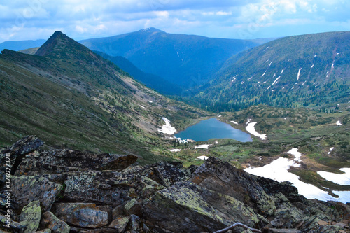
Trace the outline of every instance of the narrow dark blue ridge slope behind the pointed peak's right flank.
[[103, 52], [94, 51], [98, 55], [101, 55], [102, 57], [109, 59], [111, 62], [116, 64], [120, 69], [123, 69], [123, 71], [126, 71], [127, 73], [130, 73], [132, 78], [135, 78], [139, 82], [143, 83], [147, 87], [151, 87], [154, 90], [162, 93], [162, 94], [179, 94], [182, 92], [183, 88], [181, 88], [179, 85], [176, 85], [174, 83], [169, 83], [164, 78], [161, 78], [160, 76], [156, 76], [152, 73], [145, 73], [144, 71], [141, 71], [137, 66], [132, 64], [128, 59], [125, 57], [111, 57], [109, 55], [106, 55]]

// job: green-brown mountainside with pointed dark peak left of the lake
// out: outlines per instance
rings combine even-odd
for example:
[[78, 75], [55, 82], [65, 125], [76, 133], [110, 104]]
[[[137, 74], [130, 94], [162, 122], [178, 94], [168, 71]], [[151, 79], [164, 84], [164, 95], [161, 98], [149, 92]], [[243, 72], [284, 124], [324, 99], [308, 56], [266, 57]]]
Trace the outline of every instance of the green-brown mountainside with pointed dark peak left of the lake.
[[179, 128], [206, 114], [137, 83], [59, 31], [36, 55], [3, 50], [0, 70], [1, 146], [36, 134], [55, 148], [134, 153], [151, 162], [167, 155], [162, 117]]

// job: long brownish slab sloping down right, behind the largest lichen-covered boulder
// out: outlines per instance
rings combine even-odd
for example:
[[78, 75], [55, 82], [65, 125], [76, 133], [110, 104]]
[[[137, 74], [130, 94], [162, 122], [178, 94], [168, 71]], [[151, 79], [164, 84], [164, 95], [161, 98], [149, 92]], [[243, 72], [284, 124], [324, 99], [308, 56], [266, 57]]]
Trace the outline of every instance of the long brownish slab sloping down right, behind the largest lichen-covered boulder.
[[274, 199], [267, 195], [258, 183], [258, 176], [248, 174], [214, 157], [209, 157], [198, 167], [190, 180], [209, 190], [234, 197], [258, 209], [262, 214], [273, 215], [276, 210]]

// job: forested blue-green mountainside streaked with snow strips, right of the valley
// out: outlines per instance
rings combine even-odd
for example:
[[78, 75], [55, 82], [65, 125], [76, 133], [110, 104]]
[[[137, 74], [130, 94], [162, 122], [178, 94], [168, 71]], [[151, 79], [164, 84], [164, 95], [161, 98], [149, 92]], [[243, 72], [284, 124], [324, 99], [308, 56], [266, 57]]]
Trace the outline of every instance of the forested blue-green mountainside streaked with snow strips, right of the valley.
[[214, 111], [256, 104], [337, 108], [350, 96], [350, 32], [290, 36], [228, 59], [190, 100]]

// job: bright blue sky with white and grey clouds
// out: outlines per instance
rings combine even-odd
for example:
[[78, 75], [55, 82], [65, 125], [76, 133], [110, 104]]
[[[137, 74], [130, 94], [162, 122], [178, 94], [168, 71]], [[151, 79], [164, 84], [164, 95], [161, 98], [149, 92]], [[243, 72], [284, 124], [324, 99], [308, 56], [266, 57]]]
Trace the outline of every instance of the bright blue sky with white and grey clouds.
[[349, 0], [13, 0], [0, 2], [0, 43], [76, 40], [148, 27], [216, 38], [350, 31]]

